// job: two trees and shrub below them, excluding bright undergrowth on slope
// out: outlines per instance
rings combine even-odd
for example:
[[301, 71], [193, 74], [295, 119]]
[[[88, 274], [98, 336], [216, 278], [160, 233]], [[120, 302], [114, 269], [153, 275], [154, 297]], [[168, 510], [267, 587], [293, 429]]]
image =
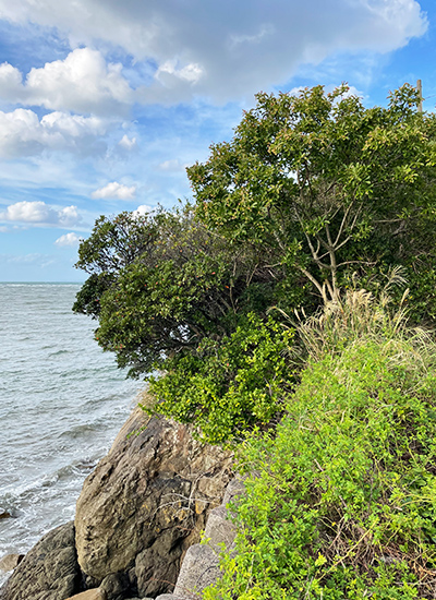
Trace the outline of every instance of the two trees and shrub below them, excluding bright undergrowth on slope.
[[195, 205], [100, 217], [80, 245], [89, 277], [74, 310], [98, 320], [99, 345], [131, 376], [158, 371], [156, 410], [205, 440], [280, 412], [293, 382], [286, 314], [329, 307], [320, 327], [300, 327], [310, 355], [324, 340], [323, 359], [338, 336], [340, 353], [374, 327], [371, 311], [364, 331], [353, 309], [353, 332], [338, 319], [355, 274], [374, 292], [401, 265], [414, 317], [436, 314], [436, 118], [417, 113], [411, 86], [387, 108], [349, 92], [259, 94], [233, 140], [187, 169]]

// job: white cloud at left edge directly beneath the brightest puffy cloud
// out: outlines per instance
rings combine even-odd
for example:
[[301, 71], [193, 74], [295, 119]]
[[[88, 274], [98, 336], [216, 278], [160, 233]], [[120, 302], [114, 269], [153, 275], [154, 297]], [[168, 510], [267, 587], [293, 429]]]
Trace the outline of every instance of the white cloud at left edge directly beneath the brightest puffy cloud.
[[36, 112], [17, 108], [0, 111], [0, 157], [31, 156], [44, 149], [95, 153], [106, 148], [97, 139], [106, 124], [96, 117], [50, 112], [40, 120]]

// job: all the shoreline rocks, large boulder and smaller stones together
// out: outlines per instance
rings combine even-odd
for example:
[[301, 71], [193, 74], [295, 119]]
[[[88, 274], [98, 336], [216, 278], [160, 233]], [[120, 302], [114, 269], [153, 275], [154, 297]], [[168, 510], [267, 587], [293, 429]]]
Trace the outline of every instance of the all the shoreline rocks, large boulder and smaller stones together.
[[[217, 544], [232, 543], [232, 459], [189, 427], [135, 409], [85, 480], [74, 523], [15, 564], [9, 557], [0, 599], [198, 598], [218, 576]], [[205, 529], [209, 542], [198, 545]]]

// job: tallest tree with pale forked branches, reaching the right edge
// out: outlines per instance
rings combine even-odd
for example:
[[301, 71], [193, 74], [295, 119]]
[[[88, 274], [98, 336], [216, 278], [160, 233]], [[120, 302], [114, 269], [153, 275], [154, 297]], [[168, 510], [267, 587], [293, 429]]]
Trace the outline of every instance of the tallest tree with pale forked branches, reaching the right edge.
[[408, 85], [370, 109], [344, 85], [258, 94], [233, 140], [187, 169], [196, 214], [229, 239], [275, 248], [277, 264], [338, 301], [351, 271], [435, 245], [435, 118], [417, 101]]

